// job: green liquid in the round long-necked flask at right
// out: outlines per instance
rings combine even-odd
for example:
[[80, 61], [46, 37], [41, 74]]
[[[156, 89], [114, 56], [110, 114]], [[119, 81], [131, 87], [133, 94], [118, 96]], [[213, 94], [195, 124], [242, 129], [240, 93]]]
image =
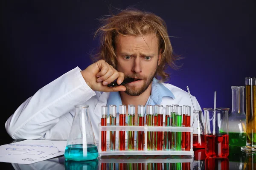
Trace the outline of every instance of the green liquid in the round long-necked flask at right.
[[245, 146], [246, 145], [246, 133], [229, 132], [229, 145], [231, 146]]

